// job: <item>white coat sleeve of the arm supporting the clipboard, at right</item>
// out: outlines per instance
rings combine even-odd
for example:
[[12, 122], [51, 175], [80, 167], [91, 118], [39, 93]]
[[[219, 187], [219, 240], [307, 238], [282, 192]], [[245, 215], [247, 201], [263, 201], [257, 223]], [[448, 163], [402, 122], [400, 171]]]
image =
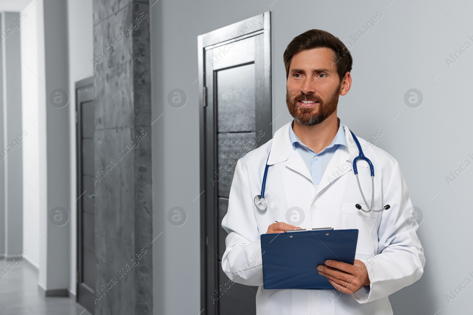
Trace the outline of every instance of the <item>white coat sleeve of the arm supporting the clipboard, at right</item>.
[[[353, 294], [359, 303], [367, 303], [411, 285], [424, 271], [424, 250], [412, 221], [411, 198], [396, 161], [385, 188], [383, 204], [391, 205], [383, 211], [378, 229], [378, 255], [360, 259], [368, 270], [369, 289], [361, 288]], [[410, 220], [411, 219], [411, 220]]]

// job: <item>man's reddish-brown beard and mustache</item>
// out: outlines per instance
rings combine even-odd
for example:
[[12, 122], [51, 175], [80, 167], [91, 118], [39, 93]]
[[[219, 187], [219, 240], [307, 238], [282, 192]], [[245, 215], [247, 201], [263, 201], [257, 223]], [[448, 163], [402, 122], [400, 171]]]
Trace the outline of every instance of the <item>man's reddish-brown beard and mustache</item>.
[[[320, 124], [337, 109], [340, 90], [341, 86], [338, 86], [335, 93], [330, 95], [326, 100], [313, 93], [301, 93], [298, 96], [289, 98], [289, 92], [286, 90], [286, 103], [289, 113], [294, 117], [294, 120], [301, 125], [314, 126]], [[304, 108], [300, 106], [298, 101], [315, 101], [318, 102], [318, 104], [310, 108]]]

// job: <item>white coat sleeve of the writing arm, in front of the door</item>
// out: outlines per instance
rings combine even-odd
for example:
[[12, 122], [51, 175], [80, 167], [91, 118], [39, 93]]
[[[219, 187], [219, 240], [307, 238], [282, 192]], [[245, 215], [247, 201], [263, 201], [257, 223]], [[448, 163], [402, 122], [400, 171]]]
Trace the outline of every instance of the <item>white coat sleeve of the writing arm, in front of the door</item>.
[[248, 170], [238, 160], [228, 198], [228, 212], [222, 220], [222, 227], [228, 232], [222, 269], [231, 281], [261, 286], [261, 241], [249, 185]]

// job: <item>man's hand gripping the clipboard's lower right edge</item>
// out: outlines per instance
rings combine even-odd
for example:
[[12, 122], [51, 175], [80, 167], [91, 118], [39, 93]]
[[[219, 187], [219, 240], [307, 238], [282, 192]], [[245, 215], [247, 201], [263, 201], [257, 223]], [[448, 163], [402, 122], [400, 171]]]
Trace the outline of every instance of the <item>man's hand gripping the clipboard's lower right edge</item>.
[[368, 270], [358, 259], [355, 259], [355, 264], [326, 260], [325, 265], [317, 266], [317, 270], [328, 278], [335, 289], [346, 294], [353, 294], [369, 285]]

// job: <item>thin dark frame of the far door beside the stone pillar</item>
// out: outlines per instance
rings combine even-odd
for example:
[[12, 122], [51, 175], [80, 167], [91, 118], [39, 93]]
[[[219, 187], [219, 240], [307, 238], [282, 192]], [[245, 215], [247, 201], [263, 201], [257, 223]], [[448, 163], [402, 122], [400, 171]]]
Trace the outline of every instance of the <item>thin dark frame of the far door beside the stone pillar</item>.
[[[74, 93], [76, 95], [76, 233], [79, 237], [76, 237], [76, 302], [79, 302], [79, 283], [82, 277], [82, 124], [79, 124], [81, 117], [81, 105], [78, 98], [78, 90], [94, 86], [94, 77], [87, 77], [80, 81], [77, 81], [74, 85]], [[94, 314], [94, 310], [88, 310]]]

